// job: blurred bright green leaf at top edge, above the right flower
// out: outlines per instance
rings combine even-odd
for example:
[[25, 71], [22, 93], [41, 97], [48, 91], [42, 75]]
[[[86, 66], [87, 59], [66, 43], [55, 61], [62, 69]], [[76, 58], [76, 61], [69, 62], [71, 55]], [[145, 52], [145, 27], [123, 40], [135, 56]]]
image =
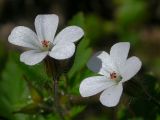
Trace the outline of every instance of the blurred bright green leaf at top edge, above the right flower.
[[142, 0], [123, 0], [117, 9], [117, 22], [121, 27], [138, 25], [146, 13], [146, 2]]

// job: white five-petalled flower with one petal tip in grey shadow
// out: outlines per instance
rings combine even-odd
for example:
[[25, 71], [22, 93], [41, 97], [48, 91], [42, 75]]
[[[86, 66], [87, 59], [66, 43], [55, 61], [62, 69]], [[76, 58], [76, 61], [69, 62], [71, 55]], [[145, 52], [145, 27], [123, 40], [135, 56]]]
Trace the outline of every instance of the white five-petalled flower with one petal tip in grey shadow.
[[104, 51], [95, 54], [87, 66], [100, 76], [89, 77], [80, 84], [83, 97], [95, 95], [101, 91], [100, 102], [108, 107], [119, 103], [123, 83], [131, 79], [141, 68], [141, 61], [133, 56], [127, 59], [130, 44], [120, 42], [112, 46], [110, 55]]

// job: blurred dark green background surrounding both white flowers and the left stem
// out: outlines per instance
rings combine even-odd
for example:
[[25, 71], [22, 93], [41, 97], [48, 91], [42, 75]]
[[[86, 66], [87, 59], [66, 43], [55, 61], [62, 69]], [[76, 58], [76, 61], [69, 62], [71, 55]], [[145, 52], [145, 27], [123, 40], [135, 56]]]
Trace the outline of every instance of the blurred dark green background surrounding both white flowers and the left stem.
[[[66, 120], [160, 120], [159, 0], [0, 0], [0, 120], [60, 120], [51, 110], [51, 78], [43, 63], [20, 63], [24, 49], [8, 43], [15, 26], [35, 30], [38, 14], [57, 14], [58, 31], [68, 25], [85, 31], [72, 67], [60, 78]], [[107, 108], [99, 95], [81, 98], [80, 82], [93, 75], [86, 62], [119, 41], [129, 41], [130, 55], [143, 62], [138, 75], [125, 83], [120, 104]]]

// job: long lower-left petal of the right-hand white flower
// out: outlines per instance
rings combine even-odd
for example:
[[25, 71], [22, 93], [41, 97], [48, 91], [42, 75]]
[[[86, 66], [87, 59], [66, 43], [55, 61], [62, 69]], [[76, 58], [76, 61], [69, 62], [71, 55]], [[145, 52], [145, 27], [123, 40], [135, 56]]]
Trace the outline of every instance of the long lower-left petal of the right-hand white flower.
[[114, 85], [115, 82], [105, 76], [94, 76], [84, 79], [80, 84], [80, 94], [83, 97], [95, 95], [102, 90]]

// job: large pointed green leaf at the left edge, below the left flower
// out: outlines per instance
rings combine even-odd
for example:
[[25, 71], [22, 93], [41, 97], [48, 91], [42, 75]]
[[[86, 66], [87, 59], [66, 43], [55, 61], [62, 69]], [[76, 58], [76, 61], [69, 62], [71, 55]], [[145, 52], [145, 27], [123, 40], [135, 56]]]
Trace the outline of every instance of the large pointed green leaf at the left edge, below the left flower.
[[[0, 114], [8, 119], [14, 119], [12, 112], [25, 104], [28, 91], [22, 79], [22, 71], [14, 61], [12, 54], [2, 72], [0, 81]], [[18, 118], [15, 118], [18, 120]], [[21, 120], [21, 119], [20, 119]]]

